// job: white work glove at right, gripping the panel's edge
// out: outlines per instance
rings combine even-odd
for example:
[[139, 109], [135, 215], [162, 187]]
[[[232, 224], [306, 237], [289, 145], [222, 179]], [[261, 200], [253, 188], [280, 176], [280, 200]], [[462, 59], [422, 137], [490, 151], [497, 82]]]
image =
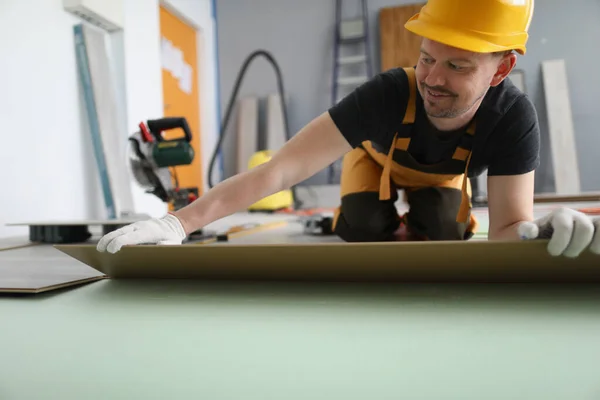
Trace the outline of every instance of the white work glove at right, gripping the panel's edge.
[[559, 208], [533, 222], [523, 222], [518, 232], [522, 239], [550, 239], [548, 253], [552, 256], [574, 258], [586, 248], [600, 254], [600, 218], [570, 208]]

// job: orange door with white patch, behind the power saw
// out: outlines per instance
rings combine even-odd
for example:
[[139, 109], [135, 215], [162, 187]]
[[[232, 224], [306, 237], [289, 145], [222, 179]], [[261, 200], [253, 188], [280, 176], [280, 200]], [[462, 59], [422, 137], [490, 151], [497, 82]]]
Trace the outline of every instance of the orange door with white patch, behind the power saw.
[[[202, 194], [200, 101], [196, 30], [169, 10], [160, 7], [162, 84], [165, 117], [185, 117], [192, 131], [194, 161], [176, 167], [181, 188]], [[181, 129], [165, 132], [166, 138], [183, 136]]]

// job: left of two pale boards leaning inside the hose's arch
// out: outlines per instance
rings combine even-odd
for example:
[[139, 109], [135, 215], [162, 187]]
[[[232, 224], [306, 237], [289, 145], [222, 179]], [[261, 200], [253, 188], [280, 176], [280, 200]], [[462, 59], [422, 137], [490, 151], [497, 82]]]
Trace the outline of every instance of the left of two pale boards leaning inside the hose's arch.
[[258, 98], [238, 100], [237, 173], [248, 170], [248, 161], [258, 149]]

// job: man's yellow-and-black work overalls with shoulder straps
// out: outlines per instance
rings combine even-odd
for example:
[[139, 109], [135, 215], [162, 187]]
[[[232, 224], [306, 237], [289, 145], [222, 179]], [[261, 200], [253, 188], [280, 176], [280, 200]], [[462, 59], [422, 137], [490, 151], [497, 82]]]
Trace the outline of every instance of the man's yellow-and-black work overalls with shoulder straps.
[[[414, 68], [404, 68], [409, 101], [403, 125], [415, 121], [417, 88]], [[465, 130], [451, 159], [437, 164], [418, 163], [408, 152], [410, 126], [397, 132], [387, 153], [370, 141], [344, 156], [341, 204], [332, 229], [348, 242], [398, 240], [394, 233], [404, 225], [417, 240], [467, 240], [477, 231], [471, 214], [471, 185], [467, 168], [471, 159], [473, 121]], [[403, 189], [409, 211], [399, 215], [394, 203]]]

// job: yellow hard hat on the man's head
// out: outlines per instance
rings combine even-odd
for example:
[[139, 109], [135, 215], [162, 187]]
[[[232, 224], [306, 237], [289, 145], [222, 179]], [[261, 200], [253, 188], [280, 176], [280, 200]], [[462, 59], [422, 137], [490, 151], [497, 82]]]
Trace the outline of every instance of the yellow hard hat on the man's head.
[[404, 25], [427, 39], [477, 53], [525, 54], [534, 0], [429, 0]]

